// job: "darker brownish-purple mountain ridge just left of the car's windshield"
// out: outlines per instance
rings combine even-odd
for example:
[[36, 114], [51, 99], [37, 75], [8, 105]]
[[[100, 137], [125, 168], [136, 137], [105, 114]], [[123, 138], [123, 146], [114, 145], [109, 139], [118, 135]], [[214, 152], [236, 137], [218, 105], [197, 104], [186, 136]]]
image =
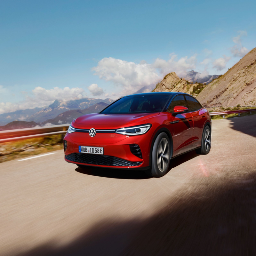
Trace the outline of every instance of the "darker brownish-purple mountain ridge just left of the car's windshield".
[[76, 119], [79, 116], [83, 116], [86, 114], [91, 114], [91, 113], [97, 113], [106, 108], [109, 104], [105, 102], [99, 102], [96, 103], [89, 108], [85, 109], [73, 109], [73, 110], [68, 110], [60, 115], [56, 116], [55, 118], [48, 119], [42, 123], [42, 125], [45, 124], [70, 124], [74, 119]]

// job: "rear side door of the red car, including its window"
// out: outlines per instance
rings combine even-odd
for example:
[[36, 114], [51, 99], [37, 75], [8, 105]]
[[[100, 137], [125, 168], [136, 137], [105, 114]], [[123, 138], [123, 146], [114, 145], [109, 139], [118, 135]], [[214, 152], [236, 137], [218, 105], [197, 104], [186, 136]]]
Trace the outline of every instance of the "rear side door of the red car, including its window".
[[204, 124], [206, 121], [207, 110], [192, 96], [185, 95], [187, 100], [188, 109], [193, 116], [194, 128], [193, 128], [193, 145], [192, 148], [201, 147], [202, 133]]

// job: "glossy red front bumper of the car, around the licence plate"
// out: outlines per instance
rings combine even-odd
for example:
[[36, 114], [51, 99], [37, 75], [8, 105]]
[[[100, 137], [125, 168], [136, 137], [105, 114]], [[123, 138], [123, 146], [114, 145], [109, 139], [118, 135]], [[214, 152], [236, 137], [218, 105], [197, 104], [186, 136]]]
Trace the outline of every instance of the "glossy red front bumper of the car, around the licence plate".
[[[76, 133], [76, 132], [75, 132]], [[113, 139], [111, 138], [113, 137]], [[67, 133], [65, 160], [69, 163], [108, 168], [147, 168], [149, 166], [151, 132], [137, 136], [97, 134], [94, 143], [88, 133]], [[115, 143], [109, 143], [114, 140]], [[90, 142], [90, 143], [89, 143]], [[130, 144], [140, 147], [142, 159], [133, 155]], [[103, 147], [104, 155], [79, 153], [79, 146]]]

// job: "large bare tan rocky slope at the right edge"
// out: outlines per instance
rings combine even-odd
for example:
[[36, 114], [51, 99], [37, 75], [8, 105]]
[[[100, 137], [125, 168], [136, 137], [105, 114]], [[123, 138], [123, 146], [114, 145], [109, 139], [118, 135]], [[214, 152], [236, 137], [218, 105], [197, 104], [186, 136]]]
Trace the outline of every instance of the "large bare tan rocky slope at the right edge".
[[256, 48], [208, 84], [197, 99], [205, 107], [256, 105]]

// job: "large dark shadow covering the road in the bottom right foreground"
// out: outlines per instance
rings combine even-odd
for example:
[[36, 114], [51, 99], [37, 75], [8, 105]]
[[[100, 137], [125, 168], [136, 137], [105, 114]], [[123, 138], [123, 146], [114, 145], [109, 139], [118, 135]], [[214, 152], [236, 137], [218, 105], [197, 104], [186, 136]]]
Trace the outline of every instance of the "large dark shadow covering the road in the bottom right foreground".
[[69, 243], [53, 240], [9, 255], [255, 255], [255, 173], [241, 177], [237, 169], [221, 179], [204, 177], [194, 186], [177, 191], [148, 218], [113, 215]]

